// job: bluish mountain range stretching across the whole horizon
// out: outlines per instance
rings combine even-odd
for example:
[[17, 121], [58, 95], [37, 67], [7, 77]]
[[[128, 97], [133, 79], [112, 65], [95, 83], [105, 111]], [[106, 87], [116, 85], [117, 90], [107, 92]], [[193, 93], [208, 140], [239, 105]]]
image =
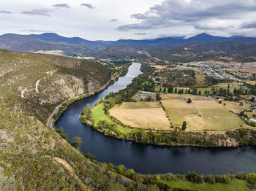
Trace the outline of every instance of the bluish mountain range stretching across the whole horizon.
[[[158, 39], [119, 39], [117, 41], [89, 41], [80, 37], [64, 37], [53, 33], [44, 34], [4, 34], [0, 36], [0, 47], [22, 52], [37, 52], [39, 50], [61, 50], [65, 55], [83, 55], [99, 58], [127, 57], [127, 55], [141, 55], [147, 52], [176, 52], [189, 47], [194, 50], [241, 50], [250, 45], [255, 53], [255, 37], [244, 36], [212, 36], [198, 34], [190, 38], [164, 37]], [[182, 47], [182, 48], [181, 48]], [[246, 47], [248, 49], [248, 47]], [[146, 52], [145, 52], [146, 51]]]

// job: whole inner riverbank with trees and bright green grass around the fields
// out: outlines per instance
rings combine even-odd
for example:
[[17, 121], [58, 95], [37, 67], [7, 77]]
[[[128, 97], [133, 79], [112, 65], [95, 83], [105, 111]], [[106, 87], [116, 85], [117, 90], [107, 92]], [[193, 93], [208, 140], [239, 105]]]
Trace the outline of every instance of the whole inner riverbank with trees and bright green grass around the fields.
[[[146, 69], [148, 68], [146, 67]], [[164, 145], [168, 147], [241, 147], [256, 144], [256, 130], [252, 129], [239, 128], [226, 131], [225, 133], [207, 133], [207, 131], [202, 133], [173, 128], [173, 130], [165, 132], [161, 130], [132, 128], [111, 116], [109, 109], [113, 108], [116, 104], [121, 104], [124, 101], [135, 101], [132, 97], [140, 90], [140, 86], [146, 82], [149, 74], [151, 72], [144, 72], [142, 75], [135, 77], [132, 83], [124, 90], [108, 95], [104, 103], [102, 103], [100, 114], [94, 112], [95, 122], [88, 122], [88, 120], [85, 120], [86, 117], [80, 117], [81, 122], [91, 125], [105, 136], [141, 144]], [[105, 117], [103, 117], [104, 115]]]

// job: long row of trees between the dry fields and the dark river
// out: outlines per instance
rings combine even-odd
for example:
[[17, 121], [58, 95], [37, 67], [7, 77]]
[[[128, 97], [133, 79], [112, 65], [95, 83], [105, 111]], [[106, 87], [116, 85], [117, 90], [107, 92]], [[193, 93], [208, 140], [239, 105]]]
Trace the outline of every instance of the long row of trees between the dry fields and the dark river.
[[94, 129], [105, 136], [113, 136], [117, 139], [124, 139], [127, 141], [135, 141], [143, 144], [157, 144], [157, 145], [194, 145], [200, 147], [223, 147], [227, 138], [236, 139], [239, 145], [255, 145], [256, 131], [242, 129], [246, 133], [237, 133], [240, 130], [230, 131], [226, 135], [223, 134], [208, 134], [199, 132], [184, 131], [187, 128], [187, 122], [183, 122], [182, 128], [174, 128], [173, 131], [153, 132], [140, 130], [138, 128], [129, 128], [126, 133], [116, 128], [116, 123], [107, 122], [105, 120], [99, 121], [98, 125], [93, 126]]

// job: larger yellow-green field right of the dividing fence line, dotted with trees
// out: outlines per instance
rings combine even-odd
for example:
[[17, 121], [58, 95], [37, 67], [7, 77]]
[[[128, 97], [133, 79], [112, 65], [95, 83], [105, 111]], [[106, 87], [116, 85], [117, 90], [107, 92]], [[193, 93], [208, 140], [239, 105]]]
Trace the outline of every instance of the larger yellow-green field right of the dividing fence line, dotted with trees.
[[[192, 98], [192, 103], [187, 104], [187, 99]], [[187, 130], [230, 130], [241, 125], [247, 127], [245, 122], [233, 110], [241, 112], [237, 103], [225, 101], [227, 104], [218, 104], [212, 98], [198, 95], [162, 95], [162, 104], [170, 117], [170, 122], [181, 127], [187, 121]]]

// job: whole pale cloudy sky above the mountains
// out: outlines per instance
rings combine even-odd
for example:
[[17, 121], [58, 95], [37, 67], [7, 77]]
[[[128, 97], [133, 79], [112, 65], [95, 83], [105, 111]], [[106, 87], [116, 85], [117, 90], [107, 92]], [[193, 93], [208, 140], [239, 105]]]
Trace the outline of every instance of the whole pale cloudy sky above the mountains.
[[1, 0], [0, 34], [85, 39], [256, 36], [256, 0]]

